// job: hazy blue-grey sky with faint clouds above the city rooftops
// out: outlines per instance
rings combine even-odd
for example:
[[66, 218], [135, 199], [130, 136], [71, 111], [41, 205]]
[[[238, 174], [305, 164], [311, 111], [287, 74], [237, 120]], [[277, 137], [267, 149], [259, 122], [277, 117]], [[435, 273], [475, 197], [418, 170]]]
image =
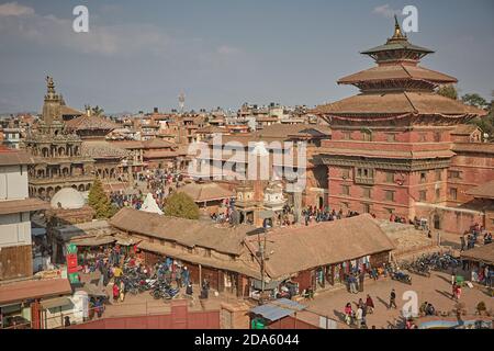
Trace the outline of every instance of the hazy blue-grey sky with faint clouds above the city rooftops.
[[[89, 33], [72, 9], [89, 9]], [[45, 76], [67, 104], [108, 112], [315, 104], [357, 92], [337, 86], [392, 35], [393, 12], [418, 8], [423, 65], [494, 90], [494, 1], [0, 0], [0, 112], [40, 111]]]

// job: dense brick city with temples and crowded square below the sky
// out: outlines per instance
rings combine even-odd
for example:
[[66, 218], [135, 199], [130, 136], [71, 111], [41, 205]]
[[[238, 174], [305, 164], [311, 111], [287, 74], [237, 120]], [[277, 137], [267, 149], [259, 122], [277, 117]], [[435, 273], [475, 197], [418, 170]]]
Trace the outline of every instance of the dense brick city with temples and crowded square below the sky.
[[386, 21], [316, 106], [111, 114], [40, 75], [0, 118], [0, 329], [492, 329], [494, 100]]

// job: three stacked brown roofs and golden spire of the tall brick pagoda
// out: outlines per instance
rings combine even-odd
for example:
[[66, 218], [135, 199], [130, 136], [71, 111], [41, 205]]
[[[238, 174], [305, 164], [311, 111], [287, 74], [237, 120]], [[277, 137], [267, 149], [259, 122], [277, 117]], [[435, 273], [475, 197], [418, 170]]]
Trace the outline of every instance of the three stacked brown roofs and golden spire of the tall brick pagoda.
[[457, 79], [419, 66], [420, 59], [431, 53], [409, 43], [395, 21], [394, 34], [384, 45], [361, 53], [373, 58], [378, 66], [338, 80], [340, 84], [356, 86], [360, 93], [319, 105], [313, 112], [329, 117], [333, 124], [341, 120], [361, 123], [405, 117], [408, 124], [434, 116], [436, 122], [450, 125], [485, 115], [483, 110], [435, 92], [442, 84], [456, 83]]

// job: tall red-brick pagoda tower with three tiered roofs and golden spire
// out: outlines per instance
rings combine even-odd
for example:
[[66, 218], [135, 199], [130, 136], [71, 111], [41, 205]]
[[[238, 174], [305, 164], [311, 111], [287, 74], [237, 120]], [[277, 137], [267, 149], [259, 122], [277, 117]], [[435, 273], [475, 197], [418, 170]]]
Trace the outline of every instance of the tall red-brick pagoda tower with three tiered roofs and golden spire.
[[[396, 19], [392, 37], [361, 54], [377, 66], [338, 80], [360, 92], [313, 111], [332, 127], [321, 155], [328, 168], [328, 204], [381, 218], [426, 217], [442, 229], [456, 157], [452, 134], [486, 112], [436, 93], [457, 79], [422, 67], [433, 50], [412, 44]], [[494, 169], [489, 172], [494, 177]], [[459, 207], [450, 210], [462, 215]], [[462, 225], [475, 220], [473, 214]]]

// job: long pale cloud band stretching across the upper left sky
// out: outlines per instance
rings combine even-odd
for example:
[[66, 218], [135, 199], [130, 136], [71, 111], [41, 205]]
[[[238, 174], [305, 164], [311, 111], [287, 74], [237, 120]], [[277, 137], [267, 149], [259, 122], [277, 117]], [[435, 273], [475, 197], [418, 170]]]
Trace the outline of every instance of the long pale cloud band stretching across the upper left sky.
[[[22, 14], [29, 14], [24, 16]], [[89, 13], [89, 32], [75, 33], [75, 18], [61, 19], [53, 14], [42, 15], [33, 8], [22, 7], [15, 2], [0, 5], [0, 38], [12, 39], [13, 43], [27, 42], [41, 45], [45, 49], [66, 48], [80, 54], [102, 56], [158, 56], [183, 60], [202, 61], [205, 55], [215, 61], [231, 58], [239, 53], [228, 45], [210, 46], [200, 38], [177, 38], [164, 29], [153, 24], [104, 25], [98, 21], [97, 14]], [[0, 42], [1, 43], [1, 42]]]

